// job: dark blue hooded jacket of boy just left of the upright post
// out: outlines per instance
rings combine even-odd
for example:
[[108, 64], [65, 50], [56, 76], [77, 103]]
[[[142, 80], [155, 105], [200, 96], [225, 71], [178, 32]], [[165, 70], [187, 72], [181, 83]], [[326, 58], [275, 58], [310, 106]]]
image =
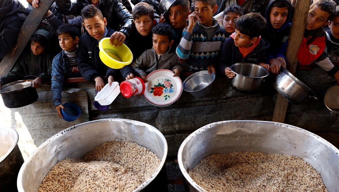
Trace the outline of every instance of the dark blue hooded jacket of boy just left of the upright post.
[[[285, 23], [279, 28], [273, 28], [270, 22], [270, 12], [272, 9], [272, 4], [276, 1], [285, 1], [288, 7], [288, 14]], [[288, 22], [291, 19], [292, 15], [292, 4], [290, 0], [271, 0], [266, 8], [265, 18], [267, 20], [267, 26], [264, 33], [261, 35], [268, 43], [270, 43], [270, 50], [268, 51], [268, 57], [266, 63], [270, 63], [270, 60], [273, 58], [282, 57], [286, 60], [286, 49], [288, 38], [290, 37], [291, 24]]]

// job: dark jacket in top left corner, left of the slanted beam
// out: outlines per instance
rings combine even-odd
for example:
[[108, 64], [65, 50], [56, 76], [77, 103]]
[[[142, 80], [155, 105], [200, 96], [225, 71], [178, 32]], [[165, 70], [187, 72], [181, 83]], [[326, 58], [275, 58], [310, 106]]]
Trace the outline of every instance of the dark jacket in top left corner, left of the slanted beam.
[[13, 47], [15, 41], [17, 40], [20, 28], [28, 15], [27, 10], [18, 0], [1, 1], [0, 61]]

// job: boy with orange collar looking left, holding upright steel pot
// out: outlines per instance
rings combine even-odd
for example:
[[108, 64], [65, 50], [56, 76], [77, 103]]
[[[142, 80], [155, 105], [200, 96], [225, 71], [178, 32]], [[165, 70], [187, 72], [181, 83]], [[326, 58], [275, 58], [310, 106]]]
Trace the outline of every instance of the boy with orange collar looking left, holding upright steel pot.
[[270, 44], [260, 34], [266, 27], [266, 19], [258, 13], [248, 13], [235, 20], [235, 33], [222, 45], [219, 68], [223, 74], [235, 77], [230, 66], [235, 63], [254, 63], [270, 70], [265, 64], [266, 51]]

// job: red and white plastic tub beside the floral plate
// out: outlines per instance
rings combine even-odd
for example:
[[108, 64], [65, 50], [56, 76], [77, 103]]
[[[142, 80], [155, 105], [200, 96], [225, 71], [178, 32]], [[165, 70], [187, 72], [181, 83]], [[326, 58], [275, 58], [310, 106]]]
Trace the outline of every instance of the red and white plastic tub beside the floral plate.
[[120, 83], [120, 92], [125, 98], [142, 95], [144, 91], [145, 83], [140, 77], [135, 77]]

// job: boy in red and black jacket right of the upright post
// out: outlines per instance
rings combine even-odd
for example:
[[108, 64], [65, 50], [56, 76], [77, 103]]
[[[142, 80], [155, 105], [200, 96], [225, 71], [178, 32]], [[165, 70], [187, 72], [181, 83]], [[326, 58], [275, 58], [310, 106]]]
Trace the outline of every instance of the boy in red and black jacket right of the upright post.
[[306, 27], [297, 58], [301, 65], [315, 62], [329, 75], [334, 75], [339, 85], [339, 71], [327, 57], [326, 32], [322, 28], [332, 19], [336, 4], [332, 0], [317, 0], [310, 6]]

